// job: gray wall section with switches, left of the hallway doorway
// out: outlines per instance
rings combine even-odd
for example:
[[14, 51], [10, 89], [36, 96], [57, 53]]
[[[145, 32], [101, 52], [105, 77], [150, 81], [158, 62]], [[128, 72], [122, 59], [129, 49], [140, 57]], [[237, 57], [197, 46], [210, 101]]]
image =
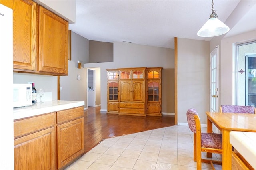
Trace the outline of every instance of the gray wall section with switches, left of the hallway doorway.
[[[71, 32], [71, 60], [68, 61], [68, 76], [60, 76], [60, 100], [84, 101], [87, 108], [87, 69], [77, 68], [81, 63], [89, 61], [89, 40]], [[80, 75], [80, 80], [77, 79]]]

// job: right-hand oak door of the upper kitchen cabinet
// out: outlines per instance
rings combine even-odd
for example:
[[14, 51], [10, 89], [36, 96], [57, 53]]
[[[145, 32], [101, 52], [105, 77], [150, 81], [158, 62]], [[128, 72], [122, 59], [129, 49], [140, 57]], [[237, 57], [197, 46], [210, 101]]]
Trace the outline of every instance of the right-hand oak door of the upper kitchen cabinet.
[[39, 7], [38, 71], [68, 74], [68, 22]]

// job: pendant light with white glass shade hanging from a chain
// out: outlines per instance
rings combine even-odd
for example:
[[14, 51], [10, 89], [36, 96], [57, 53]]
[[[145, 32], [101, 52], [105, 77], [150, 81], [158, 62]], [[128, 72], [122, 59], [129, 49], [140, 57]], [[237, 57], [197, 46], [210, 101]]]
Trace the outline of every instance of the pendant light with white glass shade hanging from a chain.
[[218, 19], [216, 11], [213, 8], [212, 0], [212, 14], [210, 14], [208, 21], [197, 32], [197, 35], [200, 37], [214, 37], [225, 34], [228, 31], [229, 27]]

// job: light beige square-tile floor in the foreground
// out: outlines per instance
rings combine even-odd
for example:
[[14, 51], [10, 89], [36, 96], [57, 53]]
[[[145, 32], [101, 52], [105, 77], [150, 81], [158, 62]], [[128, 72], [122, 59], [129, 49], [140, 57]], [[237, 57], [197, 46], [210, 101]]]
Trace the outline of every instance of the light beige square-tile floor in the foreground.
[[[188, 126], [171, 126], [108, 138], [65, 170], [196, 170], [193, 136]], [[221, 155], [212, 154], [212, 159], [221, 160]], [[212, 167], [202, 163], [202, 169]]]

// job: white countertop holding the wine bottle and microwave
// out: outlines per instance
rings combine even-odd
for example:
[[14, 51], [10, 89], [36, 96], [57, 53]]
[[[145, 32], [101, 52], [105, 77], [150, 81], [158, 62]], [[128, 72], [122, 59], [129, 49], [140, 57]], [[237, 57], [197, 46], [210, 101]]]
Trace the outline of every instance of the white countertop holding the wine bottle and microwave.
[[84, 106], [84, 101], [45, 101], [28, 107], [13, 109], [14, 120]]

